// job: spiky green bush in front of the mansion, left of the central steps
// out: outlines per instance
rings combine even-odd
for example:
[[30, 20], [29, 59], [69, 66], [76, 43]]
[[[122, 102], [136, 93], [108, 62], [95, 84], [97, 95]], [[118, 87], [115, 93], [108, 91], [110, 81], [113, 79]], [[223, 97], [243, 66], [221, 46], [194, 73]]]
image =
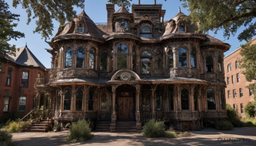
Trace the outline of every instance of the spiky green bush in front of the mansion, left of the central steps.
[[86, 141], [93, 137], [91, 134], [90, 122], [86, 120], [78, 120], [77, 122], [72, 122], [69, 135], [67, 137], [68, 141]]

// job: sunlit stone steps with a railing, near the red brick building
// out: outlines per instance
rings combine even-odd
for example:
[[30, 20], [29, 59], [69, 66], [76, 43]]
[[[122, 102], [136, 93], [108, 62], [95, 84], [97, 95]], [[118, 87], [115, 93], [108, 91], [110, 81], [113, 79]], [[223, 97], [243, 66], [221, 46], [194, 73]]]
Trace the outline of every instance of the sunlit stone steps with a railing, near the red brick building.
[[48, 132], [52, 125], [52, 119], [43, 119], [38, 122], [33, 121], [29, 127], [22, 132]]

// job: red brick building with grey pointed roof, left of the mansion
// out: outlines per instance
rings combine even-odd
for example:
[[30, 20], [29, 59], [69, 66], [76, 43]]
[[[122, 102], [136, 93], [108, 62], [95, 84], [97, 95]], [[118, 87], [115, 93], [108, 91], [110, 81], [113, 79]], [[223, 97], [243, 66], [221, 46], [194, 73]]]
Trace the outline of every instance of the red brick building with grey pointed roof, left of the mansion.
[[26, 115], [34, 106], [35, 80], [45, 77], [46, 68], [27, 46], [17, 48], [16, 57], [0, 54], [0, 63], [0, 120]]

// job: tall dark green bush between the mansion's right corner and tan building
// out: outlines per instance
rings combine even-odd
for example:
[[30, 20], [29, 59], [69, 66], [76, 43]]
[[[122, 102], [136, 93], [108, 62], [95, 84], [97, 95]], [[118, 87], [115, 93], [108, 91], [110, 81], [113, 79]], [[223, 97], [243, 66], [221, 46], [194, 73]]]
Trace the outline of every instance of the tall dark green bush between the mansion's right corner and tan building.
[[237, 110], [234, 110], [230, 104], [227, 104], [227, 116], [228, 120], [232, 123], [234, 127], [241, 127], [243, 126], [243, 123], [241, 121], [242, 117], [238, 113]]

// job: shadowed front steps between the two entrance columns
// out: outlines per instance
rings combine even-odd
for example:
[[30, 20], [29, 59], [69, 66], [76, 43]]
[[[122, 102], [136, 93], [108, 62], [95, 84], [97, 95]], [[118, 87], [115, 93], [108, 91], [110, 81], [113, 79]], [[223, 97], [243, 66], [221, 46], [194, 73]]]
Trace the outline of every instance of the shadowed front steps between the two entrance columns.
[[136, 122], [130, 120], [117, 120], [115, 132], [137, 132]]

